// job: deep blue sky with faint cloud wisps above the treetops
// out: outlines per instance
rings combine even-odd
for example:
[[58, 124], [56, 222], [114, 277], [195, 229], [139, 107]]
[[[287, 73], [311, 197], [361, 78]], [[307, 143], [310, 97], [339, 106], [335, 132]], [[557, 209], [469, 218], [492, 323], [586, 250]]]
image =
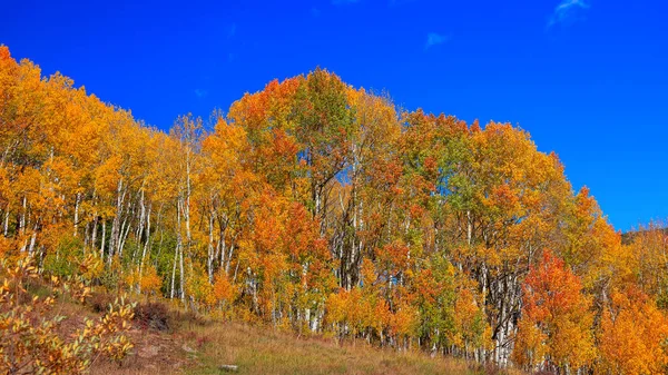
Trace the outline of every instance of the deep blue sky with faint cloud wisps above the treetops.
[[327, 68], [406, 109], [509, 121], [627, 230], [668, 218], [668, 4], [4, 1], [0, 43], [167, 129]]

